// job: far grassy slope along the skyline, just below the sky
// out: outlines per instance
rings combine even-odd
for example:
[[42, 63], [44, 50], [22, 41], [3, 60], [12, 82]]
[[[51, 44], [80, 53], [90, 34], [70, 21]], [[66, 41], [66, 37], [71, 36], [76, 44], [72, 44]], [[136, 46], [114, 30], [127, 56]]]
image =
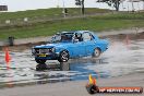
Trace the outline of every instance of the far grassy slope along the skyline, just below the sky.
[[[53, 8], [53, 9], [39, 9], [39, 10], [28, 10], [28, 11], [19, 11], [19, 12], [4, 12], [0, 13], [0, 21], [4, 20], [16, 20], [28, 17], [29, 20], [35, 19], [52, 19], [52, 17], [63, 17], [62, 14], [63, 9], [61, 8]], [[95, 13], [106, 13], [110, 12], [110, 10], [106, 9], [94, 9], [94, 8], [86, 8], [85, 14], [95, 14]], [[68, 16], [80, 15], [81, 9], [80, 8], [69, 8], [68, 9]]]

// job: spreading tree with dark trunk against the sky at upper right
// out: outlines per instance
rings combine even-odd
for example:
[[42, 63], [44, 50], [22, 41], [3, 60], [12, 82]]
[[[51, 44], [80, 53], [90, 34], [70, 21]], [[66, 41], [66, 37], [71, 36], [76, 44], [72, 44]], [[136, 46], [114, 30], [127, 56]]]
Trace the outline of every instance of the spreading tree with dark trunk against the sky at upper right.
[[106, 2], [108, 5], [113, 7], [116, 11], [119, 11], [120, 3], [123, 0], [97, 0], [97, 2]]

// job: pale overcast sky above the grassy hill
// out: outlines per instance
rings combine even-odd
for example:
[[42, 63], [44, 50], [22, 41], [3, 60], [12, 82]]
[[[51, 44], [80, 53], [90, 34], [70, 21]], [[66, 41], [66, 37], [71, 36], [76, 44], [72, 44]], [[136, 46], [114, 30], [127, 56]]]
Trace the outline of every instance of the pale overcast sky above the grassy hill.
[[[0, 4], [7, 4], [9, 11], [24, 11], [24, 10], [35, 10], [35, 9], [46, 9], [46, 8], [57, 8], [59, 7], [74, 8], [75, 0], [0, 0]], [[96, 0], [85, 0], [86, 8], [103, 8], [112, 9], [105, 3], [96, 3]], [[123, 9], [124, 8], [124, 9]], [[131, 10], [132, 4], [123, 3], [120, 5], [121, 10]], [[143, 3], [134, 3], [136, 10], [143, 9]]]

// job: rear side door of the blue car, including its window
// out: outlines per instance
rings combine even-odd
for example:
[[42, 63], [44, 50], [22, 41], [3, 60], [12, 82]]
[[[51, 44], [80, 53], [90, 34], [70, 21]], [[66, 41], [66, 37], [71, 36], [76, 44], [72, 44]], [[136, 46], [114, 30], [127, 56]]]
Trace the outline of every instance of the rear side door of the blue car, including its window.
[[83, 33], [83, 40], [85, 45], [85, 56], [91, 56], [95, 49], [95, 41], [89, 32]]

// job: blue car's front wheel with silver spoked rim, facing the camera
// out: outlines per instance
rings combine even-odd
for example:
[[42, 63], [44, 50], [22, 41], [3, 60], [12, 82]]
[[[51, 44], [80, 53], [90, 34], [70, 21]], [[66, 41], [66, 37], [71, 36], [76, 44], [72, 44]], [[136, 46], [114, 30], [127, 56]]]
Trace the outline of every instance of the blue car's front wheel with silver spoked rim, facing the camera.
[[69, 60], [69, 52], [67, 50], [63, 50], [60, 52], [58, 61], [59, 62], [67, 62]]

